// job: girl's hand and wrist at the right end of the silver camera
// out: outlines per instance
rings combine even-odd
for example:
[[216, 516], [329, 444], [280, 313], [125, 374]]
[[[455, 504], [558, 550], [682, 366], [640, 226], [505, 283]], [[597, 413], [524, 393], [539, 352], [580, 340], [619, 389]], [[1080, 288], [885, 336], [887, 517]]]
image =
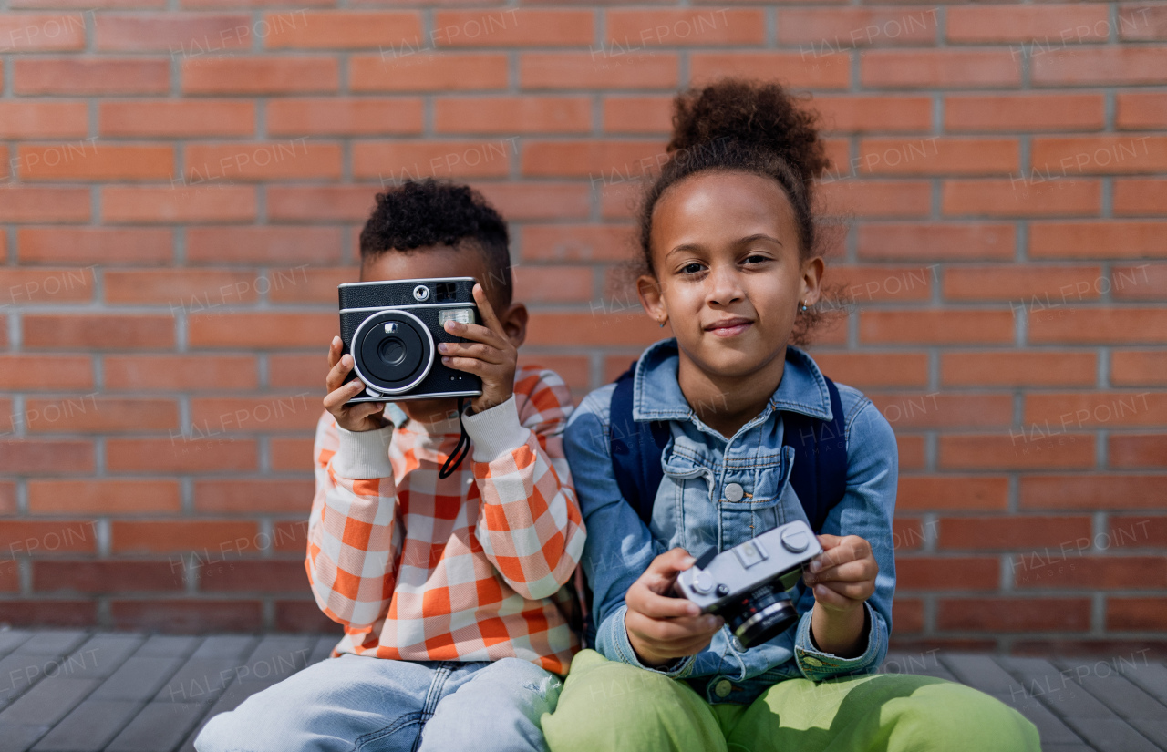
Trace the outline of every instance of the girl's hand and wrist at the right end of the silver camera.
[[867, 610], [875, 592], [879, 563], [871, 543], [858, 535], [819, 535], [819, 554], [803, 570], [803, 582], [815, 591], [811, 635], [819, 649], [853, 658], [866, 649]]

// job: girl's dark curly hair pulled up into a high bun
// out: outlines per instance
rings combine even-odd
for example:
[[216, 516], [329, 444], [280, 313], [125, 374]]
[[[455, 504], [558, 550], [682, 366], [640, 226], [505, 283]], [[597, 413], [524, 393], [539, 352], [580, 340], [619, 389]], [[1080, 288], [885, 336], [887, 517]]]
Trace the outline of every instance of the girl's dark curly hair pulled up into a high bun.
[[[818, 134], [819, 115], [802, 98], [774, 82], [724, 78], [689, 89], [673, 99], [672, 139], [668, 161], [643, 196], [640, 209], [642, 273], [652, 266], [652, 210], [661, 196], [686, 177], [703, 171], [733, 170], [770, 177], [794, 209], [799, 259], [815, 255], [820, 227], [813, 210], [815, 181], [831, 162]], [[798, 314], [791, 342], [809, 343], [823, 312]]]

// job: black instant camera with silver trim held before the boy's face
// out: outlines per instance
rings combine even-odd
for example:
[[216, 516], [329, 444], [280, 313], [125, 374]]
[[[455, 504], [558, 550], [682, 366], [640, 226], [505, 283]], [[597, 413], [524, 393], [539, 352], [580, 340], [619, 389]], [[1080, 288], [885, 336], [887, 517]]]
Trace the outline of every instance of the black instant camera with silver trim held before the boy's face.
[[480, 322], [469, 276], [347, 282], [337, 288], [343, 352], [365, 391], [354, 402], [478, 396], [482, 380], [442, 365], [438, 344], [466, 342], [445, 329], [453, 318]]

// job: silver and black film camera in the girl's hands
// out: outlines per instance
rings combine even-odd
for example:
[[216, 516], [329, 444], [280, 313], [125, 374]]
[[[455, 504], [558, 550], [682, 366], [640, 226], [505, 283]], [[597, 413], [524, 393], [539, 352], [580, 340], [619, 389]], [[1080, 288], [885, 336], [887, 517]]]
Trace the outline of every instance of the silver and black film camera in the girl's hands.
[[720, 554], [710, 549], [677, 576], [676, 589], [726, 620], [749, 648], [770, 640], [798, 620], [787, 591], [802, 577], [803, 564], [823, 553], [802, 520], [780, 525]]

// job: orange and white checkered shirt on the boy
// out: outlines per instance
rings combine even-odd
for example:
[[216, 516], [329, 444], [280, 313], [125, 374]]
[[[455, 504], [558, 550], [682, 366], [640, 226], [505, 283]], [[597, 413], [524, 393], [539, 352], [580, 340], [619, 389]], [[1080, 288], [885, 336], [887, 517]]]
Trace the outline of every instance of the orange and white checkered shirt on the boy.
[[585, 539], [562, 451], [571, 412], [559, 375], [519, 368], [510, 400], [463, 416], [471, 454], [445, 479], [456, 415], [419, 423], [390, 403], [391, 424], [361, 433], [321, 416], [305, 567], [344, 625], [334, 655], [567, 672], [579, 644], [557, 603]]

